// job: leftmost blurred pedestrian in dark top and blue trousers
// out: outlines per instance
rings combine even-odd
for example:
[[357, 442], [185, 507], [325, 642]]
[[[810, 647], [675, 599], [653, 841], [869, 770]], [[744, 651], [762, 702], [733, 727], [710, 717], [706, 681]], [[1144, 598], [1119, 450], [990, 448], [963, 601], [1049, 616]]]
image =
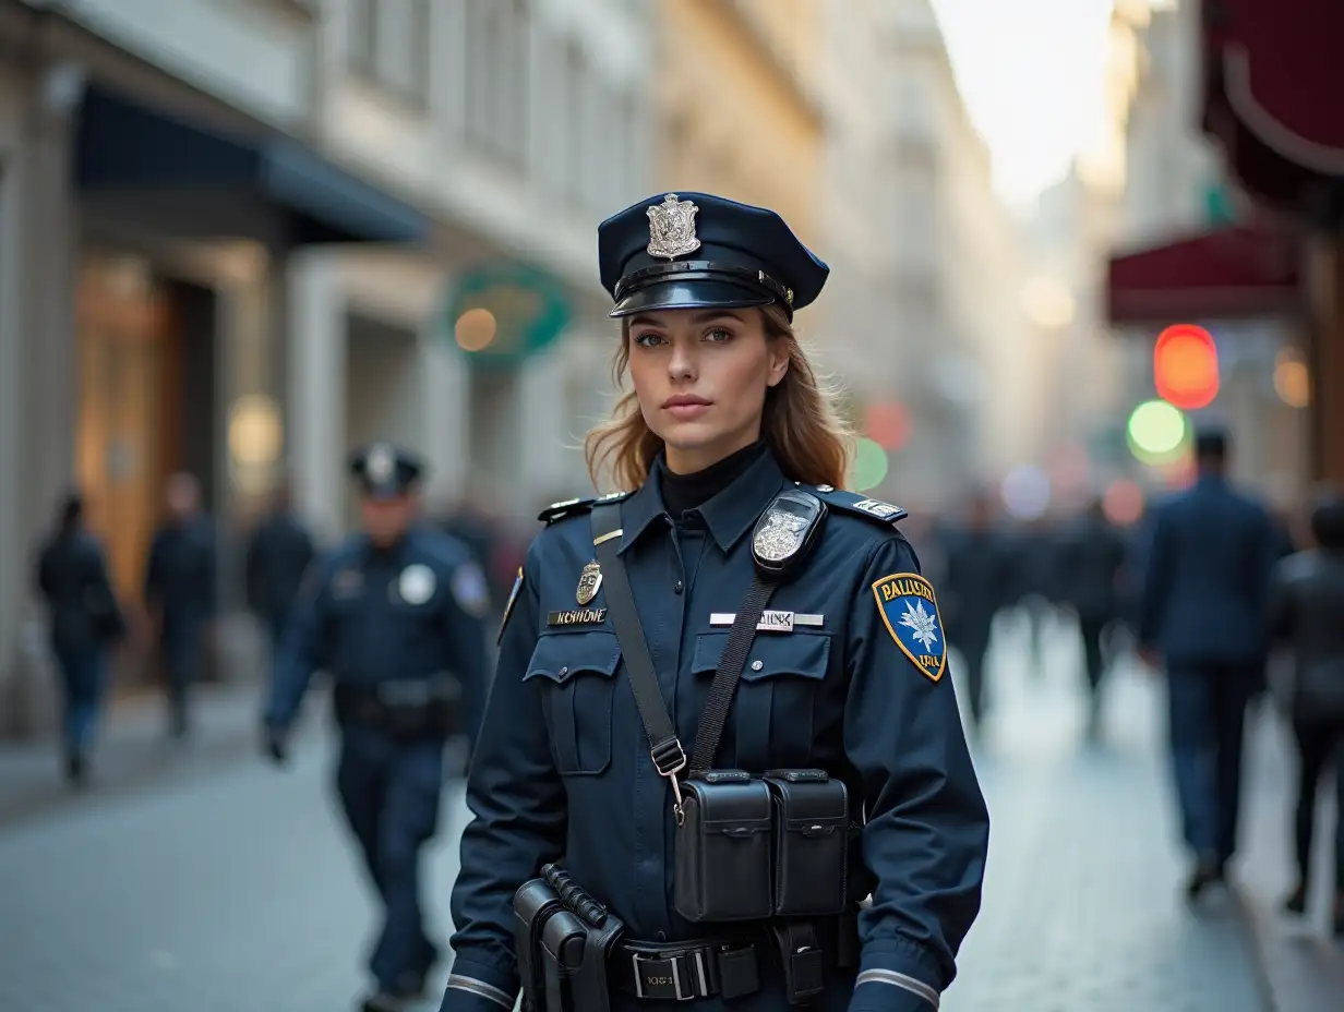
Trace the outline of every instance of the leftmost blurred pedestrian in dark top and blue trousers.
[[36, 566], [38, 590], [50, 617], [51, 652], [60, 672], [66, 778], [74, 785], [87, 778], [109, 653], [126, 634], [102, 546], [85, 527], [83, 513], [83, 499], [70, 495]]

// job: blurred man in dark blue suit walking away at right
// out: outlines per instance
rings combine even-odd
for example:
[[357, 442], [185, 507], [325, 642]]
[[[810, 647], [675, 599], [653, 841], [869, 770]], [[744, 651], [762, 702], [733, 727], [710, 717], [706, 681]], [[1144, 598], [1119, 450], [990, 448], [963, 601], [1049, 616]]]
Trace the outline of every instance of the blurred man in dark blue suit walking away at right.
[[1195, 485], [1153, 511], [1138, 617], [1140, 656], [1167, 672], [1192, 900], [1236, 852], [1246, 707], [1265, 677], [1281, 551], [1265, 508], [1227, 480], [1227, 434], [1199, 433], [1195, 456]]

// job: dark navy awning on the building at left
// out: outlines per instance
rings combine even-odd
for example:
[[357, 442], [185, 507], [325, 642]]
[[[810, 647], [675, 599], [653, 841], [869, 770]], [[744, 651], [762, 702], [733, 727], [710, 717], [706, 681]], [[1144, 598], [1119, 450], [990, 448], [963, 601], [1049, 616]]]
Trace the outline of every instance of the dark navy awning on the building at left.
[[288, 216], [294, 245], [418, 242], [429, 220], [410, 204], [278, 136], [243, 137], [90, 89], [79, 120], [83, 191], [237, 194]]

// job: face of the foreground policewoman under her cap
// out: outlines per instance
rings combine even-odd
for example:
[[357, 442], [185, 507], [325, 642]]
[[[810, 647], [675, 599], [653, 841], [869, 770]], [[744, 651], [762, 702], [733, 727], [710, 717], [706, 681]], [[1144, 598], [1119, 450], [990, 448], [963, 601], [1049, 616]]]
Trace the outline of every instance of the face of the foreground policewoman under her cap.
[[630, 317], [630, 382], [645, 423], [688, 474], [761, 437], [766, 390], [789, 368], [758, 309], [665, 309]]

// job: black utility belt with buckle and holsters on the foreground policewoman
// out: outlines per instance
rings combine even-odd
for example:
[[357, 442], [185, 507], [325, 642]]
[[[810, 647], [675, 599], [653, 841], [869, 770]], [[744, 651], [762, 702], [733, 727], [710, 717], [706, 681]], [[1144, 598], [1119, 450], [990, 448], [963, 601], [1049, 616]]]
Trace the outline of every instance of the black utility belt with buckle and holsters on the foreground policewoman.
[[612, 990], [656, 1001], [731, 1000], [782, 973], [790, 1005], [821, 993], [825, 970], [857, 966], [855, 914], [723, 926], [683, 942], [638, 942], [556, 864], [513, 896], [515, 952], [528, 1012], [607, 1012]]

